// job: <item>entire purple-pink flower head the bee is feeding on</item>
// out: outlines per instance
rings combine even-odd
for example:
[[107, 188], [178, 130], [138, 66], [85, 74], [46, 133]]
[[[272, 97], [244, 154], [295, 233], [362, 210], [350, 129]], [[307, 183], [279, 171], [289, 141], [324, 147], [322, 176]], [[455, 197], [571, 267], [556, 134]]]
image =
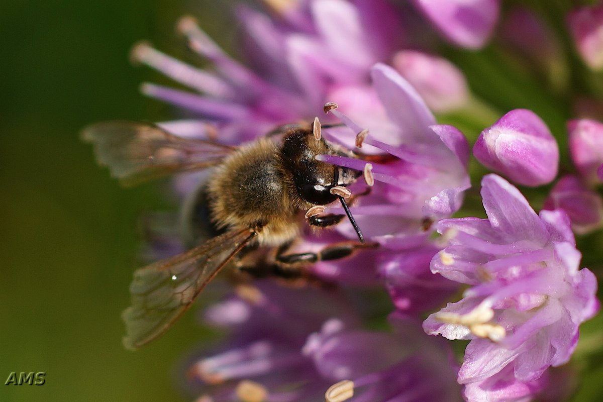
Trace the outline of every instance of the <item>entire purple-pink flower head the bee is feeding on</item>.
[[[482, 105], [490, 115], [474, 122], [483, 130], [472, 148], [482, 167], [472, 167], [464, 134], [438, 124], [432, 112], [455, 121], [478, 101], [463, 72], [438, 54], [433, 34], [472, 51], [494, 36], [529, 68], [549, 73], [561, 71], [560, 40], [527, 8], [499, 21], [499, 0], [265, 3], [270, 13], [238, 8], [244, 61], [192, 17], [178, 30], [210, 68], [136, 45], [134, 60], [191, 89], [147, 83], [142, 92], [195, 116], [159, 123], [169, 133], [228, 145], [327, 111], [321, 135], [365, 157], [317, 159], [362, 172], [349, 187], [361, 195], [351, 209], [374, 247], [309, 266], [312, 285], [237, 284], [210, 306], [205, 321], [227, 336], [190, 370], [205, 385], [199, 400], [503, 402], [544, 395], [558, 375], [551, 367], [570, 360], [579, 325], [599, 309], [597, 281], [580, 269], [574, 233], [603, 226], [603, 123], [582, 116], [567, 122], [573, 167], [564, 168], [562, 129], [527, 108], [496, 111], [492, 123], [495, 109]], [[587, 65], [603, 67], [601, 7], [572, 11], [567, 24]], [[563, 82], [555, 77], [548, 79], [558, 91]], [[480, 174], [484, 168], [496, 174]], [[461, 210], [472, 196], [470, 171], [483, 176], [487, 219], [452, 218], [475, 213]], [[180, 195], [201, 176], [178, 177]], [[532, 191], [555, 180], [538, 214], [510, 183]], [[330, 204], [323, 212], [344, 209]], [[160, 232], [147, 251], [154, 258], [178, 247], [172, 233]], [[304, 230], [290, 251], [355, 238], [352, 224], [342, 222], [326, 233]], [[375, 301], [377, 292], [386, 303]], [[462, 363], [443, 338], [470, 341]]]

